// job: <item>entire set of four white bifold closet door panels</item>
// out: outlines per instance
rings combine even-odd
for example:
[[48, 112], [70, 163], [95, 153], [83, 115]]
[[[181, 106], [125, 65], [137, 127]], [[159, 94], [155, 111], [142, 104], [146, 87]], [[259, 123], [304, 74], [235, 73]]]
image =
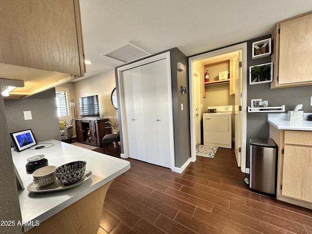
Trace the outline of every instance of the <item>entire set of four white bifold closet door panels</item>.
[[167, 59], [122, 72], [129, 157], [171, 168]]

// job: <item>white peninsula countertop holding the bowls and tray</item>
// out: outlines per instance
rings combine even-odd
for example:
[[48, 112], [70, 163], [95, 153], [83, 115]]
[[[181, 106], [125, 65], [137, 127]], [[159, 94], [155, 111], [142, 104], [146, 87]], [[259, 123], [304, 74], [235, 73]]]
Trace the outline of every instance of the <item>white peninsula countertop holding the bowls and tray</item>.
[[[39, 144], [45, 145], [45, 148], [26, 149], [19, 153], [12, 152], [13, 162], [25, 187], [24, 190], [19, 191], [23, 222], [33, 221], [35, 224], [36, 221], [39, 221], [41, 223], [130, 169], [130, 162], [127, 160], [100, 154], [58, 140], [47, 140], [39, 142]], [[33, 181], [33, 177], [32, 174], [26, 173], [26, 158], [35, 155], [45, 155], [49, 165], [54, 166], [84, 160], [87, 162], [86, 170], [92, 171], [92, 176], [81, 185], [67, 190], [46, 193], [28, 192], [26, 188]], [[31, 228], [32, 226], [25, 226], [24, 231], [27, 232]]]

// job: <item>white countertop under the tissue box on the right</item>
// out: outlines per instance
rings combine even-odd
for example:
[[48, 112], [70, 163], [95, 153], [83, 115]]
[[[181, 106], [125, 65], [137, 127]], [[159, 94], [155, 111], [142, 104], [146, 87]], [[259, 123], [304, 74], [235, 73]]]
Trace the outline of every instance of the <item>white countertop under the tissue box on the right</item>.
[[312, 113], [304, 113], [303, 121], [289, 121], [287, 114], [268, 114], [268, 122], [277, 129], [312, 131], [312, 121], [307, 121], [307, 116]]

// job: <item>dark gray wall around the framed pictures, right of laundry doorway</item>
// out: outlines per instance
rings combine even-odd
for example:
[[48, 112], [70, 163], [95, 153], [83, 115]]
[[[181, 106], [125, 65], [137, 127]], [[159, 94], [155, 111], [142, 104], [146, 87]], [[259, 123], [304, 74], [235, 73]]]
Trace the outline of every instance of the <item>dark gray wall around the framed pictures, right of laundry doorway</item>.
[[[252, 44], [255, 41], [271, 38], [271, 35], [247, 41], [247, 68], [257, 64], [271, 62], [270, 57], [252, 59]], [[248, 70], [249, 71], [249, 70]], [[293, 110], [297, 104], [303, 104], [303, 111], [312, 113], [310, 97], [312, 86], [298, 86], [289, 88], [271, 89], [271, 83], [249, 85], [249, 73], [247, 79], [247, 106], [251, 105], [251, 99], [262, 98], [268, 100], [269, 106], [285, 105], [285, 113]], [[268, 113], [247, 112], [247, 142], [246, 142], [246, 167], [250, 167], [250, 137], [269, 137], [270, 125], [267, 122]]]

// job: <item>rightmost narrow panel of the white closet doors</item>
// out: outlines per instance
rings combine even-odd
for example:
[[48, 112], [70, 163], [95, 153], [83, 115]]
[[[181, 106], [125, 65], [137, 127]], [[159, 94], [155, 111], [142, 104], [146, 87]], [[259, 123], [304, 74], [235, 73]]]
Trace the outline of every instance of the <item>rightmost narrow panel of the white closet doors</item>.
[[171, 137], [170, 133], [170, 113], [172, 105], [169, 96], [168, 61], [162, 59], [154, 64], [155, 94], [156, 94], [156, 121], [159, 166], [172, 167], [171, 162]]

